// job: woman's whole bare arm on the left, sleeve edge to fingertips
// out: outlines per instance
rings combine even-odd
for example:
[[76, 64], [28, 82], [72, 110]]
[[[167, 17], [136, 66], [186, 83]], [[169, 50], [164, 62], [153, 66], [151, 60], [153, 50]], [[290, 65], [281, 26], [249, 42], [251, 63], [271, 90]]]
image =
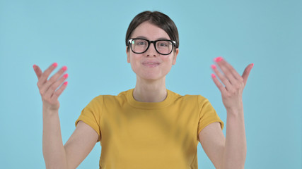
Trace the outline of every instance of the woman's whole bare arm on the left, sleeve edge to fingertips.
[[[58, 97], [66, 88], [66, 66], [47, 80], [57, 63], [50, 65], [44, 73], [37, 65], [33, 68], [38, 78], [37, 87], [42, 97], [43, 135], [42, 149], [46, 168], [76, 168], [89, 154], [98, 140], [98, 133], [85, 123], [79, 122], [66, 145], [63, 146], [59, 123]], [[63, 83], [64, 82], [64, 83]], [[63, 83], [63, 84], [62, 84]]]

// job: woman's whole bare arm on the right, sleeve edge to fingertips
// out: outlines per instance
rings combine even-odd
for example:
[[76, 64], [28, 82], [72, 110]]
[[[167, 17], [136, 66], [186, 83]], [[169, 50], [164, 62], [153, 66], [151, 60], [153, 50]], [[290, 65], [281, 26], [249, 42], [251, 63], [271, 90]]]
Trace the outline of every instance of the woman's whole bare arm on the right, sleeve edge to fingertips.
[[240, 76], [223, 58], [216, 58], [215, 61], [223, 72], [220, 73], [215, 65], [211, 66], [224, 84], [221, 84], [214, 74], [212, 75], [226, 107], [226, 138], [222, 131], [219, 132], [220, 126], [209, 125], [199, 133], [199, 140], [216, 168], [244, 168], [247, 148], [242, 94], [253, 64], [248, 65]]

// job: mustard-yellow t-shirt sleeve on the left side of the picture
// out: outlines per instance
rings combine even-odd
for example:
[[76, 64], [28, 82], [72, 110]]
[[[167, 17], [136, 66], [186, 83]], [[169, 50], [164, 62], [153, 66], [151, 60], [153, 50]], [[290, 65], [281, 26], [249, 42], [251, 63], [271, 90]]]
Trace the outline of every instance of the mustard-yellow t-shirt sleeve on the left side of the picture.
[[100, 142], [100, 117], [103, 108], [103, 96], [97, 96], [91, 100], [91, 102], [83, 108], [81, 115], [76, 120], [75, 125], [78, 125], [79, 121], [83, 121], [98, 133], [98, 142]]

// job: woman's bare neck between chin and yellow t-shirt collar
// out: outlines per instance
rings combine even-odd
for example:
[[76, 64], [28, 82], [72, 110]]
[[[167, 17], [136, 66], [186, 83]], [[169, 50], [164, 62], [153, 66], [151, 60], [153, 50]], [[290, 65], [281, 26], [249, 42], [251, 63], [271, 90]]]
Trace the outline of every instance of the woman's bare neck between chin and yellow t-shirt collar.
[[161, 102], [167, 97], [165, 77], [161, 80], [141, 80], [137, 77], [133, 97], [141, 102]]

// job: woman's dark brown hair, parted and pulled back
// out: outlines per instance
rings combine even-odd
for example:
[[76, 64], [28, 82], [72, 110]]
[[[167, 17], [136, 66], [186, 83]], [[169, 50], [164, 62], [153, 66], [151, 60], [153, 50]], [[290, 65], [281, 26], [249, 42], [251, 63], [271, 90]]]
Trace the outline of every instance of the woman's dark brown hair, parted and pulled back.
[[[144, 11], [137, 14], [131, 23], [129, 24], [127, 33], [126, 33], [126, 46], [128, 46], [128, 41], [132, 35], [132, 32], [137, 28], [141, 23], [149, 21], [149, 23], [156, 25], [163, 29], [169, 35], [170, 39], [176, 42], [176, 48], [179, 46], [179, 37], [178, 37], [178, 28], [176, 27], [173, 20], [171, 20], [168, 15], [165, 15], [158, 11]], [[129, 50], [129, 48], [128, 48]]]

